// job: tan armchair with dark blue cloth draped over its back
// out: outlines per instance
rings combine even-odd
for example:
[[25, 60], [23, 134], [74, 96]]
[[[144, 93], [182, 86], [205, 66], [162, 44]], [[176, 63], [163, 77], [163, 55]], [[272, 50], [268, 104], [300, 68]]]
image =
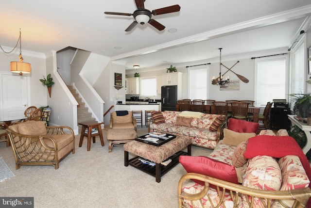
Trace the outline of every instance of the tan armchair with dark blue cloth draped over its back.
[[130, 111], [119, 111], [118, 113], [114, 111], [110, 113], [109, 128], [110, 129], [134, 128], [137, 131], [137, 122], [133, 116], [133, 113]]

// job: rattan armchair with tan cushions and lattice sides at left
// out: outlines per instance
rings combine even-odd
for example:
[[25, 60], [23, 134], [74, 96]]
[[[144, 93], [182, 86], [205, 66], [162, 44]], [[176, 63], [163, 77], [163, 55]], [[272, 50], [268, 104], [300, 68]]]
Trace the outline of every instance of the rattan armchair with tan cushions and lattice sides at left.
[[53, 165], [58, 169], [61, 160], [70, 152], [74, 154], [74, 133], [69, 127], [46, 127], [42, 121], [26, 121], [6, 130], [16, 169], [21, 165]]

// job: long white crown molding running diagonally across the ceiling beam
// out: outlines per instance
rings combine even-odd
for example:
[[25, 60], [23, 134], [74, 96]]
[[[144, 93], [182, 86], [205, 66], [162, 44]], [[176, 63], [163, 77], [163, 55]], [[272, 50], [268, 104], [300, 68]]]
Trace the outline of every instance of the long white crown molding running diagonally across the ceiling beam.
[[297, 19], [306, 16], [306, 14], [311, 14], [311, 5], [296, 8], [293, 10], [276, 13], [274, 15], [263, 16], [256, 19], [252, 19], [249, 21], [241, 22], [238, 24], [230, 25], [227, 27], [219, 28], [216, 30], [212, 30], [209, 32], [203, 32], [200, 34], [192, 35], [186, 38], [181, 38], [175, 41], [167, 42], [164, 44], [159, 44], [153, 47], [143, 48], [141, 50], [136, 50], [128, 53], [124, 53], [118, 56], [111, 57], [111, 61], [115, 61], [118, 59], [123, 59], [127, 57], [135, 57], [148, 53], [153, 53], [156, 51], [183, 46], [190, 43], [200, 42], [208, 39], [212, 39], [215, 37], [220, 37], [223, 35], [227, 35], [230, 33], [242, 32], [246, 29], [254, 29], [262, 26], [272, 25], [284, 21], [288, 21], [290, 19]]

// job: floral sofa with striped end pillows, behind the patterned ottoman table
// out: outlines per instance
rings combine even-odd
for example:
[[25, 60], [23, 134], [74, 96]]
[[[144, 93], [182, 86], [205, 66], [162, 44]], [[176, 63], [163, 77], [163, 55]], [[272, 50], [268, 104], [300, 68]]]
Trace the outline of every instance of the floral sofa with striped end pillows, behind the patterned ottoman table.
[[193, 145], [214, 149], [222, 138], [225, 124], [224, 115], [188, 111], [152, 112], [148, 131], [187, 136]]

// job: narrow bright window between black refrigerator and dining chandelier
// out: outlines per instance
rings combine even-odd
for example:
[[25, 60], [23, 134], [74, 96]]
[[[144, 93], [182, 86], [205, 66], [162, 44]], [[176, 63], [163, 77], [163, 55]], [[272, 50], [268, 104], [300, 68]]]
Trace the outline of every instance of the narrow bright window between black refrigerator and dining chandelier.
[[189, 69], [189, 99], [207, 99], [207, 66]]

